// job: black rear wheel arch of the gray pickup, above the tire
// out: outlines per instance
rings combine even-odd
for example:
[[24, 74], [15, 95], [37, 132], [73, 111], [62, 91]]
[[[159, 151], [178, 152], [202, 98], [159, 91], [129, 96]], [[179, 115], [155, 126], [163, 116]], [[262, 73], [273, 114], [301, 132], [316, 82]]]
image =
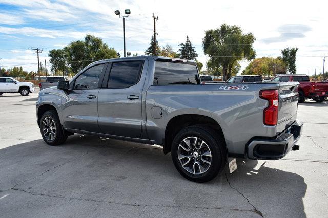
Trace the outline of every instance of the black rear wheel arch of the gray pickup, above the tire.
[[163, 143], [164, 154], [171, 151], [172, 141], [175, 135], [182, 129], [193, 125], [204, 125], [215, 130], [216, 133], [223, 137], [226, 144], [221, 125], [213, 118], [200, 114], [180, 114], [172, 117], [166, 125], [165, 138]]

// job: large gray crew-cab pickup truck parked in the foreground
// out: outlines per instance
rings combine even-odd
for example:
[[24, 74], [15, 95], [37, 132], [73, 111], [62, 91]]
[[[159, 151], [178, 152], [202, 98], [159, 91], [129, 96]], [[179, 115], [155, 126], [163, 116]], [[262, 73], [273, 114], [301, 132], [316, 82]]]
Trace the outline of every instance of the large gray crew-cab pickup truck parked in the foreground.
[[101, 60], [40, 91], [37, 124], [49, 145], [74, 133], [161, 145], [183, 177], [206, 182], [228, 157], [276, 160], [298, 150], [298, 85], [201, 85], [195, 61]]

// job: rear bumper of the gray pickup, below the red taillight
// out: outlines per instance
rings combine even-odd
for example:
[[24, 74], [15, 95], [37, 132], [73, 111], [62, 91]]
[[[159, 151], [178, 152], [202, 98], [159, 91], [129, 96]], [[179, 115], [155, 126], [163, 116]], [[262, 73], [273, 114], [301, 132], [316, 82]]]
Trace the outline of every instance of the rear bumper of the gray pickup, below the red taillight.
[[303, 123], [296, 121], [275, 138], [254, 139], [247, 147], [248, 158], [261, 160], [277, 160], [283, 158], [299, 140], [302, 130]]

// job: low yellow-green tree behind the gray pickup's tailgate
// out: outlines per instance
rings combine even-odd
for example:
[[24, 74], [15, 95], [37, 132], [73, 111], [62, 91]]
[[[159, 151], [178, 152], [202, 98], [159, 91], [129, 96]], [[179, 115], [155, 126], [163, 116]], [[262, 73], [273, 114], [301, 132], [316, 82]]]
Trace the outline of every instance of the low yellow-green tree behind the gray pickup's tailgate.
[[286, 73], [286, 65], [280, 57], [262, 57], [254, 59], [243, 70], [242, 75], [274, 76]]

